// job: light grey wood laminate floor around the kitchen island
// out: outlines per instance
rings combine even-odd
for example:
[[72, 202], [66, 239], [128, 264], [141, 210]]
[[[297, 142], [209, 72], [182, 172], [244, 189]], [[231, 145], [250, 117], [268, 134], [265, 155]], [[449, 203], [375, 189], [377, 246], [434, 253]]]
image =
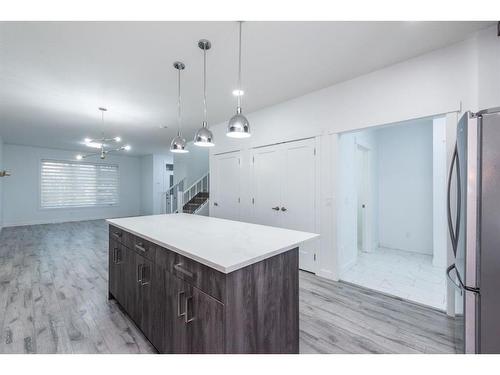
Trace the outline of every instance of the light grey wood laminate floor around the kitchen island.
[[[103, 220], [4, 228], [0, 353], [154, 353], [108, 301]], [[432, 309], [301, 272], [303, 353], [452, 353], [453, 321]]]

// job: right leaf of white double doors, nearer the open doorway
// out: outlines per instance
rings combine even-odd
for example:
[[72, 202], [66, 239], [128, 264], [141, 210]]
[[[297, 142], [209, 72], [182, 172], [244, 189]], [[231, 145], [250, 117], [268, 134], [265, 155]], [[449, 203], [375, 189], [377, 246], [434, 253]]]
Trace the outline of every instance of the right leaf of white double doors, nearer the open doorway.
[[[316, 161], [315, 140], [281, 145], [284, 155], [282, 179], [283, 227], [305, 232], [316, 231]], [[315, 254], [319, 241], [299, 247], [299, 267], [315, 272]]]

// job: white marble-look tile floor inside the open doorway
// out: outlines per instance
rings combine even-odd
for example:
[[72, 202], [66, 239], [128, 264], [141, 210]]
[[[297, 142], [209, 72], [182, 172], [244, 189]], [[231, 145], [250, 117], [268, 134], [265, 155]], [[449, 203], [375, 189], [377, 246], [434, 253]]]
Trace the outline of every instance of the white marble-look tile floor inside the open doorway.
[[386, 248], [360, 252], [356, 264], [341, 275], [341, 280], [446, 309], [445, 271], [432, 265], [430, 255]]

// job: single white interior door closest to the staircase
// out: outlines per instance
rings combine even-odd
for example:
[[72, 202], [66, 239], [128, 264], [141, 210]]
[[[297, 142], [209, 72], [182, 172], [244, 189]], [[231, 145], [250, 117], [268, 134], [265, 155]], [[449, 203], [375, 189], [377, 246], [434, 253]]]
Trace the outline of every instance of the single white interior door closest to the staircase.
[[221, 219], [240, 219], [240, 153], [215, 156], [216, 196], [212, 216]]

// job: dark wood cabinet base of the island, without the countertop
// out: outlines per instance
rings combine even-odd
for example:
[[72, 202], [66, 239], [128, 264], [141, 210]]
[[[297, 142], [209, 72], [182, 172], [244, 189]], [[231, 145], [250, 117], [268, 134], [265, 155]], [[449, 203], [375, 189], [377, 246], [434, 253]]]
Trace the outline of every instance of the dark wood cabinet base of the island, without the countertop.
[[298, 247], [225, 273], [110, 225], [109, 297], [160, 353], [299, 352]]

